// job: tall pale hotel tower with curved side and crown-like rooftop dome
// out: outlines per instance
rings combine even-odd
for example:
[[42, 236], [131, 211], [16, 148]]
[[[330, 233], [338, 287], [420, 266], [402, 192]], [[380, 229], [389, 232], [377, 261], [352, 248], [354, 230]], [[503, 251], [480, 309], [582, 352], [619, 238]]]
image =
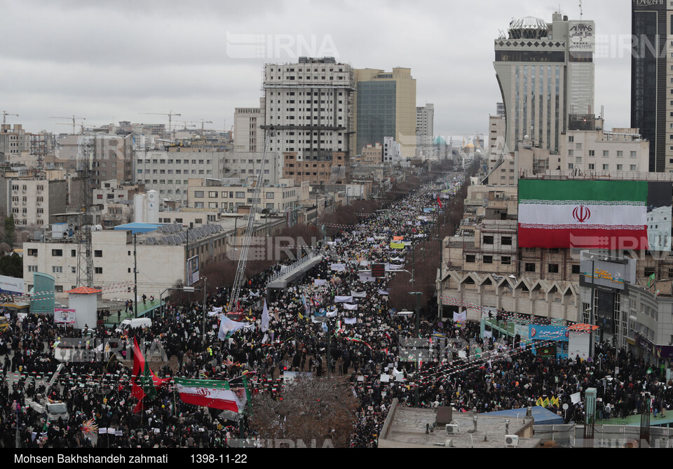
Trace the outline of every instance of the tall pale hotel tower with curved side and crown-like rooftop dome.
[[510, 151], [527, 135], [533, 145], [556, 154], [562, 134], [576, 122], [573, 116], [595, 113], [594, 34], [593, 21], [554, 13], [551, 23], [512, 20], [508, 33], [495, 40]]

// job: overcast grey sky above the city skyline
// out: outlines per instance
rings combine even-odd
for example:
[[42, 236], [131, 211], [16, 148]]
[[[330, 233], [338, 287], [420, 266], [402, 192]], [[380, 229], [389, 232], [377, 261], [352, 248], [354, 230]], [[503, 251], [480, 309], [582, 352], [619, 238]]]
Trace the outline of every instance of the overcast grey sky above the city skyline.
[[[561, 11], [579, 19], [579, 0]], [[597, 57], [596, 105], [607, 127], [630, 125], [630, 0], [584, 0], [585, 20], [613, 44]], [[494, 39], [512, 17], [551, 22], [548, 0], [0, 0], [0, 111], [31, 131], [81, 116], [233, 125], [257, 106], [264, 62], [335, 55], [355, 68], [410, 67], [417, 104], [435, 104], [435, 135], [484, 132], [501, 94]]]

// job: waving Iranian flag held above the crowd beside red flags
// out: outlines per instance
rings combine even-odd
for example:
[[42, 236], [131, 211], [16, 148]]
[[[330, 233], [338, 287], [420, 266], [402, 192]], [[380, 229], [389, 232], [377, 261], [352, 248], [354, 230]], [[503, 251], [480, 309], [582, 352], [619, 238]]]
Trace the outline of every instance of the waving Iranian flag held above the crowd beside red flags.
[[230, 389], [226, 381], [175, 378], [182, 402], [239, 412], [247, 402], [245, 388]]

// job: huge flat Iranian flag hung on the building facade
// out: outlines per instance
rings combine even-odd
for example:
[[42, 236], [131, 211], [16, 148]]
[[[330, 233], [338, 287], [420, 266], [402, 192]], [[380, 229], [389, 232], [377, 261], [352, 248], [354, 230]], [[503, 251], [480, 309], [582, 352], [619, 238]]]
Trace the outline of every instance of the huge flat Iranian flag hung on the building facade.
[[647, 249], [645, 181], [519, 181], [519, 247]]

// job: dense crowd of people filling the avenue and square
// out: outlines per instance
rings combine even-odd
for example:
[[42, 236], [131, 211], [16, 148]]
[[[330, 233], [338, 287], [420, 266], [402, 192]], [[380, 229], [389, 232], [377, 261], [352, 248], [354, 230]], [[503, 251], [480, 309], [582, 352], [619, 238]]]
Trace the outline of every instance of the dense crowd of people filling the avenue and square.
[[[449, 181], [452, 190], [461, 177], [454, 174]], [[265, 290], [277, 265], [249, 279], [237, 306], [249, 311], [243, 320], [252, 327], [224, 340], [217, 337], [219, 315], [204, 320], [204, 305], [198, 302], [190, 307], [168, 302], [161, 315], [155, 314], [151, 327], [116, 331], [100, 325], [93, 337], [56, 325], [50, 316], [11, 316], [9, 327], [0, 334], [3, 446], [217, 448], [241, 438], [254, 440], [245, 418], [229, 420], [219, 409], [186, 404], [176, 398], [170, 384], [159, 387], [156, 397], [146, 399], [139, 410], [129, 381], [134, 339], [144, 350], [161, 351], [158, 377], [220, 379], [234, 387], [242, 385], [245, 373], [253, 393], [282, 393], [277, 383], [287, 371], [343, 377], [359, 405], [351, 447], [376, 447], [395, 398], [400, 405], [491, 412], [553, 397], [559, 399], [557, 410], [566, 421], [580, 421], [582, 401], [571, 396], [595, 387], [601, 417], [627, 416], [644, 403], [660, 414], [670, 412], [673, 383], [662, 382], [632, 353], [605, 344], [597, 351], [603, 357], [600, 367], [596, 362], [540, 358], [508, 339], [494, 342], [480, 337], [479, 323], [438, 322], [436, 309], [421, 318], [416, 335], [414, 318], [396, 314], [388, 304], [388, 280], [372, 278], [367, 269], [381, 262], [388, 266], [388, 277], [400, 274], [395, 270], [404, 268], [407, 250], [391, 247], [390, 241], [399, 237], [399, 242], [413, 246], [431, 236], [435, 227], [423, 208], [439, 209], [437, 192], [442, 189], [422, 186], [393, 202], [390, 210], [344, 228], [320, 249], [322, 262], [285, 290]], [[268, 330], [261, 325], [264, 298]], [[226, 309], [227, 300], [227, 290], [221, 288], [207, 298], [205, 307]], [[327, 321], [318, 320], [320, 316]], [[422, 363], [405, 355], [402, 342], [412, 337], [431, 344]], [[451, 338], [464, 339], [468, 345], [440, 346]], [[48, 388], [48, 377], [60, 363], [55, 349], [65, 339], [82, 342], [93, 355], [64, 362], [55, 385]], [[97, 339], [114, 339], [118, 355], [96, 349]], [[476, 349], [492, 355], [478, 358]], [[64, 402], [67, 419], [46, 421], [29, 405], [44, 398]], [[564, 403], [569, 408], [562, 411]], [[93, 440], [85, 437], [82, 428], [90, 419], [107, 433]]]

